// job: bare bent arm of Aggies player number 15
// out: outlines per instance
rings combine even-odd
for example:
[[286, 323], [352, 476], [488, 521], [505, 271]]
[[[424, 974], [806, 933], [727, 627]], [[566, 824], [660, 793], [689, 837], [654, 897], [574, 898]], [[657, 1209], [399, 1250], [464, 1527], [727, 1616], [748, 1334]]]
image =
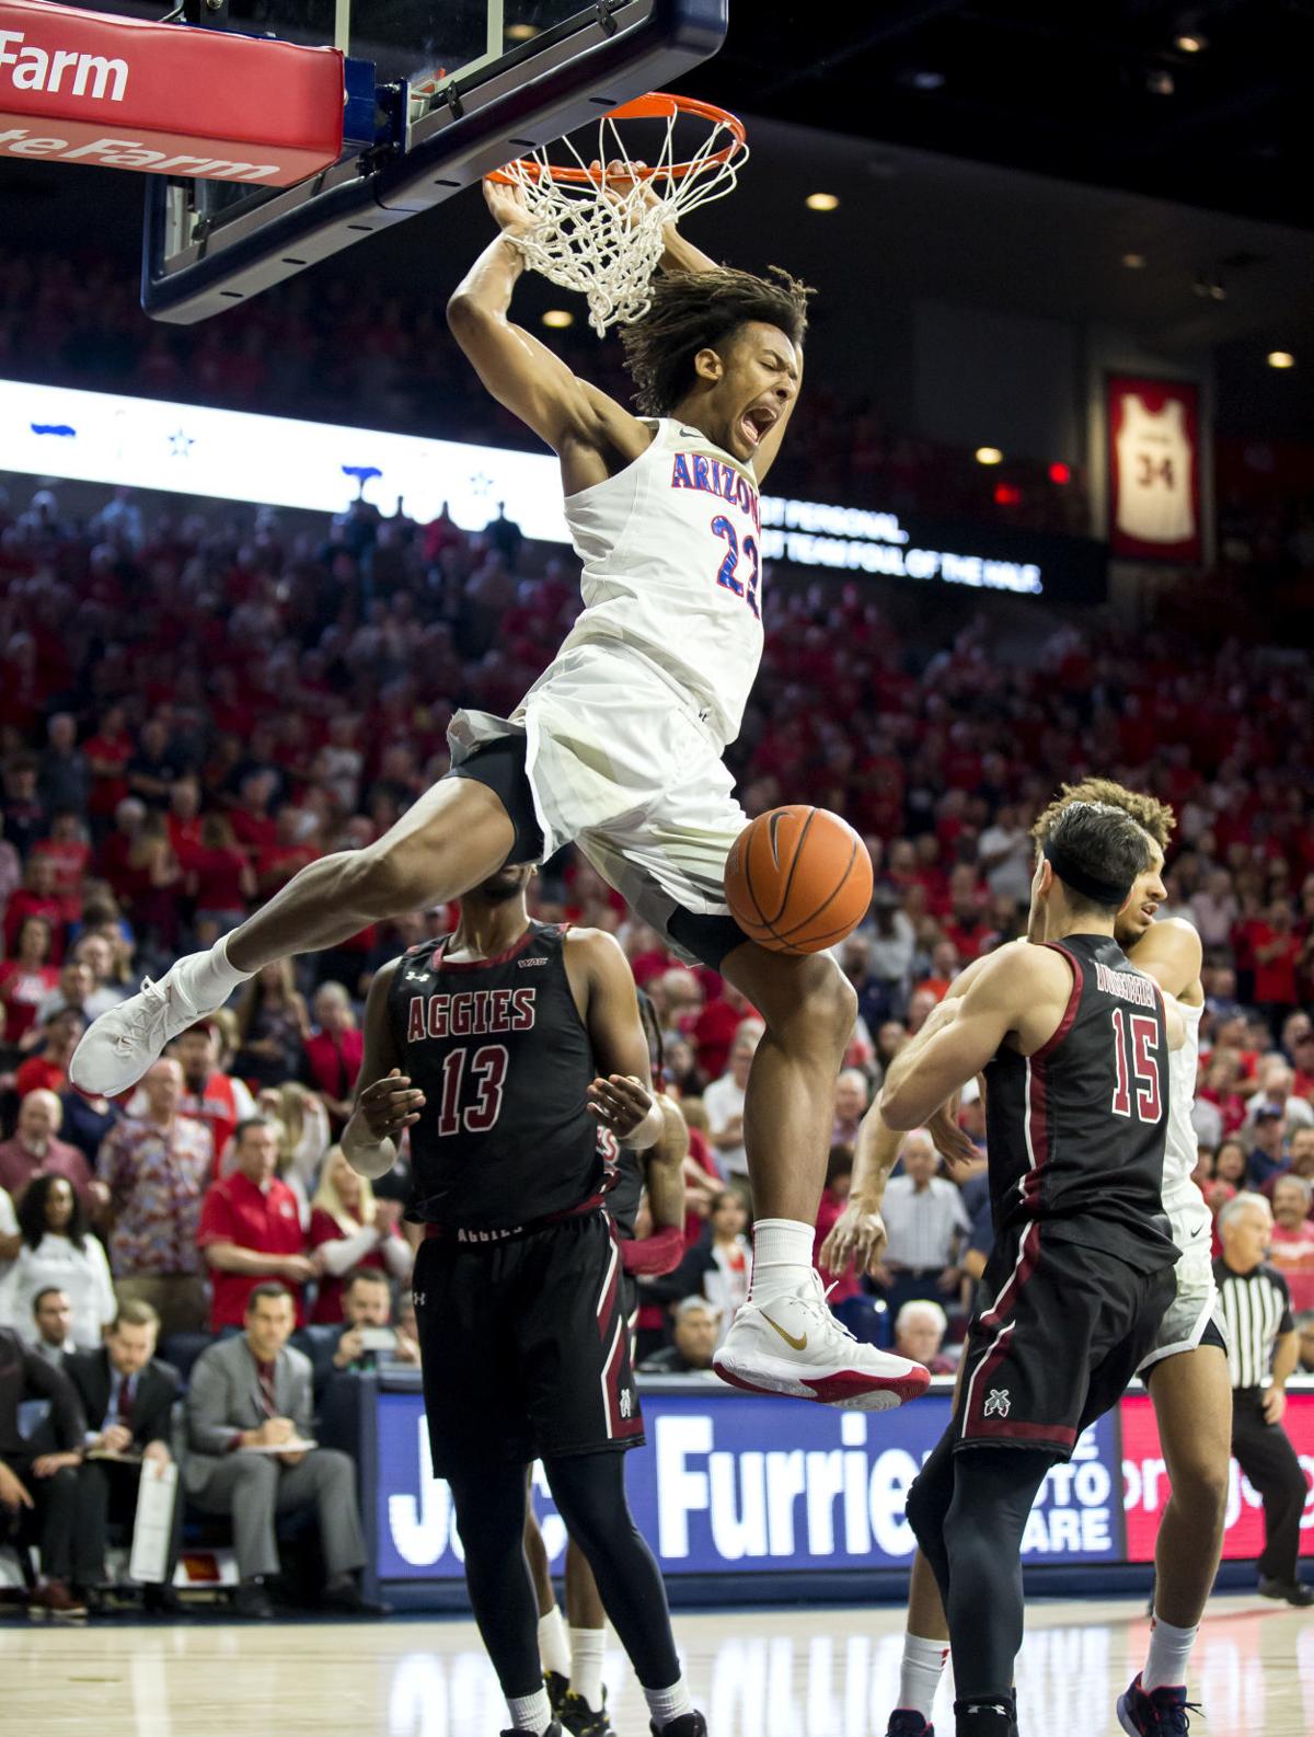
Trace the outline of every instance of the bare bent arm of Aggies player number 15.
[[1010, 1032], [1022, 1054], [1038, 1049], [1057, 1030], [1071, 987], [1071, 966], [1048, 947], [991, 954], [967, 994], [943, 1001], [890, 1063], [880, 1098], [889, 1126], [920, 1127], [986, 1068]]

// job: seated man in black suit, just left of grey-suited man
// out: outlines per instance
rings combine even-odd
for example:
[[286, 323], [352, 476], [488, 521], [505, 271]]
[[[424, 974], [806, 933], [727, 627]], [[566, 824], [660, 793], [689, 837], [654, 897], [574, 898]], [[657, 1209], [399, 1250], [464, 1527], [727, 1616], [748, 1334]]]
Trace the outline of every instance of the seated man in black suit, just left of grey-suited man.
[[[104, 1608], [104, 1534], [109, 1520], [132, 1527], [141, 1480], [172, 1461], [170, 1412], [179, 1376], [154, 1357], [160, 1317], [149, 1303], [127, 1301], [95, 1351], [75, 1351], [64, 1370], [87, 1410], [85, 1457], [78, 1468], [78, 1530], [73, 1577], [87, 1607]], [[123, 1454], [106, 1459], [102, 1454]], [[146, 1608], [177, 1608], [174, 1569], [182, 1539], [182, 1492], [174, 1503], [174, 1536], [165, 1579], [146, 1588]]]

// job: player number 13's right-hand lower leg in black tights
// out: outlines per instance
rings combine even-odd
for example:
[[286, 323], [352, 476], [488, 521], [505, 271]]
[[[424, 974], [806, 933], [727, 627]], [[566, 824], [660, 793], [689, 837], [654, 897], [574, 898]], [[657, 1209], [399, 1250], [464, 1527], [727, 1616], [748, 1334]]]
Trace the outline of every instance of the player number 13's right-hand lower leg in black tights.
[[680, 1674], [661, 1570], [634, 1523], [625, 1456], [562, 1454], [543, 1461], [566, 1530], [588, 1562], [602, 1605], [634, 1664], [653, 1730], [705, 1737]]

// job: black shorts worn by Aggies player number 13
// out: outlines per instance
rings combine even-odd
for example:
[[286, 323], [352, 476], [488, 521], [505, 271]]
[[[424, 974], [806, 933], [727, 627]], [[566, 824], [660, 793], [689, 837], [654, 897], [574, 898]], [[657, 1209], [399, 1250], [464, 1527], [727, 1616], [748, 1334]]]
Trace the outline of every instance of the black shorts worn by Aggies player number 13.
[[641, 1447], [620, 1244], [602, 1207], [415, 1261], [434, 1471]]

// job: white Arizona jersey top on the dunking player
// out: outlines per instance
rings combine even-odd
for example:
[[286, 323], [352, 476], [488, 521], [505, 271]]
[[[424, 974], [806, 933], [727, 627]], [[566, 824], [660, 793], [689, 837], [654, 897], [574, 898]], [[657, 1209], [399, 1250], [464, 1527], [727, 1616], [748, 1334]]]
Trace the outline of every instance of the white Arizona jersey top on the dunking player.
[[762, 662], [757, 483], [698, 429], [647, 426], [646, 453], [566, 497], [585, 606], [557, 655], [621, 641], [689, 695], [724, 747]]

